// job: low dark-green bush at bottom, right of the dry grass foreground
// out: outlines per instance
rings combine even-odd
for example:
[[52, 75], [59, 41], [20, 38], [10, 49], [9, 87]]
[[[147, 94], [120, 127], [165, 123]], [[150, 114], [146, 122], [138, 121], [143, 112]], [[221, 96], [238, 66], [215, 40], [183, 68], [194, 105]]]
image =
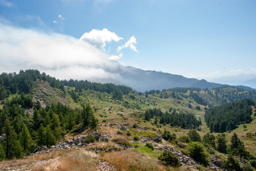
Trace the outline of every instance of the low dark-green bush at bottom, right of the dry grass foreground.
[[158, 159], [162, 161], [163, 165], [170, 165], [174, 167], [181, 166], [181, 162], [179, 162], [178, 157], [168, 150], [164, 150]]

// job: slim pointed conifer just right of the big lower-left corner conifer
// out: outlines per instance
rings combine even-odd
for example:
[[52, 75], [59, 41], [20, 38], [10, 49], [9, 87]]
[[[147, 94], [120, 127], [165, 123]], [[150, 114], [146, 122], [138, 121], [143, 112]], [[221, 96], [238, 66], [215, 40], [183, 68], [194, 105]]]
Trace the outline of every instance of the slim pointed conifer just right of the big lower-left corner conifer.
[[25, 154], [28, 154], [31, 150], [31, 145], [33, 144], [33, 140], [29, 133], [29, 129], [27, 129], [27, 126], [25, 124], [23, 124], [19, 142], [21, 143], [23, 152], [25, 152]]

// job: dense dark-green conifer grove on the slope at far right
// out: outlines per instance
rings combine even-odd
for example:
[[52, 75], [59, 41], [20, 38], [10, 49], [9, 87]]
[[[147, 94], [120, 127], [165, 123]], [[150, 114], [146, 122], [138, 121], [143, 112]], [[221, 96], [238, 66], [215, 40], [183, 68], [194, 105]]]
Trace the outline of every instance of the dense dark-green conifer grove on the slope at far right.
[[253, 100], [244, 99], [207, 109], [205, 112], [207, 127], [211, 132], [226, 132], [237, 128], [241, 123], [250, 123], [251, 105], [254, 105]]

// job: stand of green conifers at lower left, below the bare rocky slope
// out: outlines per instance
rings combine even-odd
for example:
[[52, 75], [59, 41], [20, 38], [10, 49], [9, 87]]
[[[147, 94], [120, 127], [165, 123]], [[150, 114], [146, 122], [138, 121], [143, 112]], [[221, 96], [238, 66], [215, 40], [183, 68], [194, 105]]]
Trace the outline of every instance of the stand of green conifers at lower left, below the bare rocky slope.
[[67, 132], [75, 131], [75, 125], [86, 129], [98, 124], [89, 104], [82, 109], [71, 109], [61, 103], [42, 108], [37, 101], [33, 109], [33, 116], [14, 102], [0, 109], [0, 160], [26, 156], [35, 146], [55, 145]]

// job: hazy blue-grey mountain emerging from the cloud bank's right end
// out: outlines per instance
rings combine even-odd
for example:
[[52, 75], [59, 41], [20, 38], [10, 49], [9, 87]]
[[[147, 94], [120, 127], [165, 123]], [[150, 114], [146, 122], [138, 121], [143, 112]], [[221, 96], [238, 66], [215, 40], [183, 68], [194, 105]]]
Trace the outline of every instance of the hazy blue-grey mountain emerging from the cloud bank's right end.
[[125, 67], [117, 62], [115, 63], [114, 68], [108, 69], [108, 72], [118, 74], [119, 76], [118, 78], [104, 80], [97, 79], [94, 81], [123, 84], [142, 92], [150, 89], [167, 89], [174, 87], [199, 87], [211, 89], [224, 86], [223, 84], [210, 83], [206, 80], [185, 78], [181, 75], [168, 74], [158, 71], [145, 71], [134, 67]]

